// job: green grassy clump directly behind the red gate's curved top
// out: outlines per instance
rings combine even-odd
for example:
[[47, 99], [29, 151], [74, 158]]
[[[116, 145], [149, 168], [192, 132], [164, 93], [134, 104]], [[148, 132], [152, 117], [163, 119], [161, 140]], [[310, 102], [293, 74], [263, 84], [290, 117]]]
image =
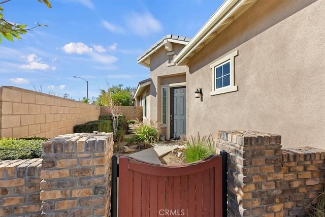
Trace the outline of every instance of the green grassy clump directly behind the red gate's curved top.
[[201, 137], [198, 133], [197, 137], [189, 136], [183, 139], [185, 140], [184, 156], [186, 163], [196, 162], [215, 154], [216, 146], [211, 135]]

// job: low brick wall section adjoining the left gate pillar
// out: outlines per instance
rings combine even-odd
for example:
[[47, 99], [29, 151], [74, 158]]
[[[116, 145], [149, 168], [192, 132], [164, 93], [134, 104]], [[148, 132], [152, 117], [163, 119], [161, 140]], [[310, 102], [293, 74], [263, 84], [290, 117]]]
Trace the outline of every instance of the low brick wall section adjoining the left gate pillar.
[[0, 161], [0, 216], [40, 216], [42, 159]]

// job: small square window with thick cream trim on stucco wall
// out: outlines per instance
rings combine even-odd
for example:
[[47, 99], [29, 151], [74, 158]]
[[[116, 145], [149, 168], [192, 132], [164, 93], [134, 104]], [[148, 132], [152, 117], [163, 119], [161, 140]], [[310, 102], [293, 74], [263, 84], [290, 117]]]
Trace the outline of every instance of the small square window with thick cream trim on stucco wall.
[[212, 88], [210, 96], [225, 94], [238, 90], [235, 86], [234, 61], [238, 55], [238, 50], [220, 58], [215, 63], [210, 65]]

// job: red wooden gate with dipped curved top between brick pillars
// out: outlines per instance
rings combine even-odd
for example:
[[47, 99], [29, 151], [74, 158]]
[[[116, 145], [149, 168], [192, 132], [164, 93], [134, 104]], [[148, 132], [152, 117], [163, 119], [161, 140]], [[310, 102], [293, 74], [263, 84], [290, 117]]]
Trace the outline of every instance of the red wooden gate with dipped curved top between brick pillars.
[[222, 157], [182, 166], [119, 158], [119, 216], [222, 216]]

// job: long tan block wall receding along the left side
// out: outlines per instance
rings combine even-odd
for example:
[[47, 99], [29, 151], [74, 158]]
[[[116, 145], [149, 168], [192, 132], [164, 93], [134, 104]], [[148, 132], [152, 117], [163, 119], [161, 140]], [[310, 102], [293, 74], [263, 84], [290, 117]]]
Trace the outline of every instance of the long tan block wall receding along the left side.
[[73, 126], [98, 120], [100, 106], [13, 86], [0, 88], [0, 137], [46, 137], [73, 132]]

